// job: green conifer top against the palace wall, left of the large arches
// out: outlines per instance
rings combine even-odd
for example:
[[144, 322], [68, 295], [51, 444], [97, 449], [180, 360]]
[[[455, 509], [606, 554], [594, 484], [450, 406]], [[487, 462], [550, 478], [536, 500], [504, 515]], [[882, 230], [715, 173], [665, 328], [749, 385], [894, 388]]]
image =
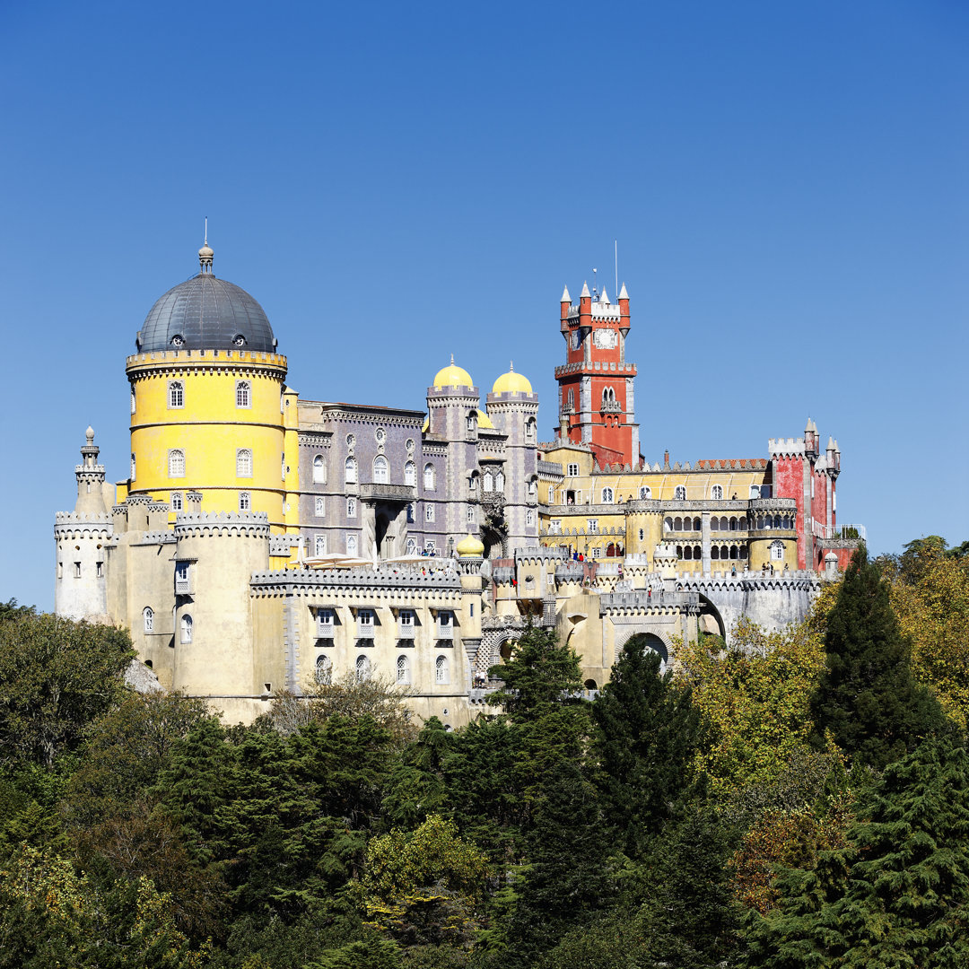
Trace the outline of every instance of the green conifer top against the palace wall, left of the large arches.
[[526, 630], [509, 659], [489, 673], [504, 685], [490, 694], [488, 703], [502, 704], [516, 720], [533, 719], [549, 706], [573, 702], [570, 695], [582, 687], [576, 651], [536, 626]]

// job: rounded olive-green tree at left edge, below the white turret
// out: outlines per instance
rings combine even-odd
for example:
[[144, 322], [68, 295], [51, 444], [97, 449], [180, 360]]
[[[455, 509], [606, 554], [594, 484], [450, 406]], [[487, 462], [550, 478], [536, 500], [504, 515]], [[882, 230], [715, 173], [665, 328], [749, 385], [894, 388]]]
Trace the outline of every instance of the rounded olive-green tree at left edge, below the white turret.
[[0, 764], [50, 766], [121, 696], [134, 657], [112, 626], [17, 610], [0, 621]]

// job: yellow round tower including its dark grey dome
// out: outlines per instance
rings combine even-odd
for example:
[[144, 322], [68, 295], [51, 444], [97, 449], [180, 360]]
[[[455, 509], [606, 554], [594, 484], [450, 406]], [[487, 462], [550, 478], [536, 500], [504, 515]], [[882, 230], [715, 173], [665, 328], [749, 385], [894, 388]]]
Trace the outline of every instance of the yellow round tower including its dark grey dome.
[[283, 389], [286, 358], [263, 307], [200, 272], [158, 299], [127, 359], [131, 383], [129, 494], [181, 511], [190, 492], [205, 512], [265, 512], [285, 529]]

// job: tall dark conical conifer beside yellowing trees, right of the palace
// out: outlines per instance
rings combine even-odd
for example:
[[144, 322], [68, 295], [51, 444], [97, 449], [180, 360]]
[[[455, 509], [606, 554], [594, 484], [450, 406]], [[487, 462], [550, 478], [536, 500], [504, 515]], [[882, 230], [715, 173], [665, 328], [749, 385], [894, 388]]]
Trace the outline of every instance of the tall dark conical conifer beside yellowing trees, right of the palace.
[[859, 763], [884, 767], [941, 730], [938, 703], [918, 685], [911, 647], [891, 611], [888, 585], [861, 547], [828, 614], [826, 669], [811, 698], [816, 748], [830, 731]]

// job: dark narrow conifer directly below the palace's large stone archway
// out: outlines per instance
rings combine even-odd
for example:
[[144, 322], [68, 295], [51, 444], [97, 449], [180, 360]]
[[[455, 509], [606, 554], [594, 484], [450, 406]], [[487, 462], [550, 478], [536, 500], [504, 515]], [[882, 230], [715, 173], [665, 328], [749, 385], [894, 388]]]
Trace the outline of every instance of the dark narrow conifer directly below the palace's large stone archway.
[[689, 788], [703, 735], [689, 687], [661, 675], [660, 665], [646, 638], [634, 636], [592, 704], [607, 824], [631, 858]]

